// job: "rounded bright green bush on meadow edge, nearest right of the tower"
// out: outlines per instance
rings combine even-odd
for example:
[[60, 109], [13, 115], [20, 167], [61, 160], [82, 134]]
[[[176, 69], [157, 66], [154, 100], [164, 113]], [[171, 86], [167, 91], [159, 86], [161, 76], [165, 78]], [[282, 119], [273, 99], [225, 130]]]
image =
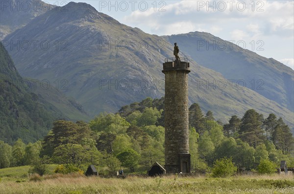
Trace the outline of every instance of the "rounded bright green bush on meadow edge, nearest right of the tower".
[[232, 158], [221, 158], [214, 162], [211, 170], [213, 177], [228, 177], [232, 176], [237, 167], [232, 162]]

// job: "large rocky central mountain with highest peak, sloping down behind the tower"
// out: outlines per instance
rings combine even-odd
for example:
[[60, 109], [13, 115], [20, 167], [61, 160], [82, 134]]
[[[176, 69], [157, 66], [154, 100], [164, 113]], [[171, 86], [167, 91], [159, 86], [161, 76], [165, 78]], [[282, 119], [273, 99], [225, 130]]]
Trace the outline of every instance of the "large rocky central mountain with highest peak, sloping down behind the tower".
[[[164, 96], [162, 63], [173, 46], [163, 37], [120, 24], [86, 3], [70, 2], [68, 11], [49, 10], [6, 36], [6, 42], [39, 41], [26, 49], [7, 46], [18, 71], [50, 82], [66, 80], [67, 96], [90, 114], [116, 112], [146, 97]], [[60, 10], [61, 8], [58, 8]], [[189, 101], [218, 119], [244, 115], [250, 108], [275, 113], [293, 124], [293, 112], [189, 58]], [[217, 80], [216, 87], [209, 85]], [[221, 82], [225, 82], [225, 87]], [[207, 84], [206, 84], [207, 83]]]

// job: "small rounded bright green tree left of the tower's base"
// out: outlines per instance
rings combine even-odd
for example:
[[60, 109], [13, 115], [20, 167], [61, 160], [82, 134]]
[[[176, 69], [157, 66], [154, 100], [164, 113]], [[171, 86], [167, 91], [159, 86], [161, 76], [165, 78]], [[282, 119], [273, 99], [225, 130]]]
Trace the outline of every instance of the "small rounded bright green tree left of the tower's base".
[[117, 155], [117, 158], [121, 161], [124, 167], [129, 168], [132, 172], [138, 166], [140, 155], [133, 149], [129, 148]]

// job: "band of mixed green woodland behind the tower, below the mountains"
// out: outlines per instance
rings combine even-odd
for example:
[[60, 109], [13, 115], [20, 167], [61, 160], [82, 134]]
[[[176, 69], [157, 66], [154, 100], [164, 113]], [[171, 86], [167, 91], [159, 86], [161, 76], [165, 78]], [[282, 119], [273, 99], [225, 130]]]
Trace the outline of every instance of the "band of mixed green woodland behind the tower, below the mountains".
[[[116, 114], [99, 114], [94, 120], [55, 121], [41, 141], [25, 145], [0, 142], [0, 168], [51, 162], [61, 169], [99, 171], [128, 168], [146, 172], [154, 162], [164, 166], [164, 98], [146, 98], [123, 106]], [[264, 119], [255, 110], [228, 123], [215, 121], [213, 112], [189, 108], [189, 143], [192, 171], [210, 170], [217, 159], [232, 158], [238, 168], [256, 169], [261, 161], [278, 167], [281, 160], [294, 167], [294, 138], [290, 128], [270, 114]], [[42, 164], [43, 164], [42, 163]], [[70, 170], [68, 170], [70, 171]]]

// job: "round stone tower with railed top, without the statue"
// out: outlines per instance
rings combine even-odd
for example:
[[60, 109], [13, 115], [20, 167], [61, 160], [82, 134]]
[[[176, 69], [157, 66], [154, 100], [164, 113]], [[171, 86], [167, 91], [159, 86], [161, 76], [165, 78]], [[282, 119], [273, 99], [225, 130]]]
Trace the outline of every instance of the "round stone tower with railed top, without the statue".
[[167, 173], [191, 172], [187, 59], [166, 58], [165, 74], [165, 169]]

